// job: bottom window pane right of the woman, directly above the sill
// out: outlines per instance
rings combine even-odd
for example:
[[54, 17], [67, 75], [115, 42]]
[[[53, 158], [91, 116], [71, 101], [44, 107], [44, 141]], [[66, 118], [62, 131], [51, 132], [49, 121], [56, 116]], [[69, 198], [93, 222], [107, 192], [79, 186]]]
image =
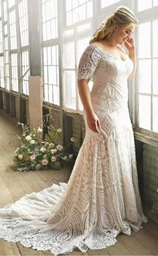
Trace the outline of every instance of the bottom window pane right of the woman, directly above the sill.
[[151, 97], [139, 95], [139, 127], [151, 130]]

